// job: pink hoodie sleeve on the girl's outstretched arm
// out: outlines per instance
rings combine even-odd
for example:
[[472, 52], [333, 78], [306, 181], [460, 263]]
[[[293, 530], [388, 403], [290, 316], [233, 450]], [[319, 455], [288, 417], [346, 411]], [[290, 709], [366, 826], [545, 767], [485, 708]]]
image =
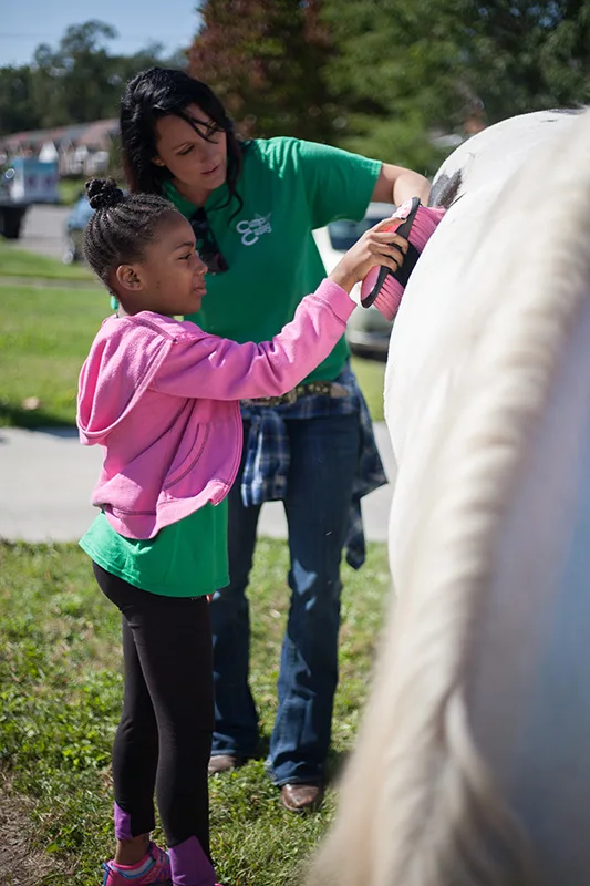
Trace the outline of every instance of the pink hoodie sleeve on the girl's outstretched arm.
[[152, 381], [177, 396], [245, 400], [280, 396], [324, 360], [346, 327], [354, 302], [324, 280], [271, 341], [238, 344], [216, 336], [179, 339]]

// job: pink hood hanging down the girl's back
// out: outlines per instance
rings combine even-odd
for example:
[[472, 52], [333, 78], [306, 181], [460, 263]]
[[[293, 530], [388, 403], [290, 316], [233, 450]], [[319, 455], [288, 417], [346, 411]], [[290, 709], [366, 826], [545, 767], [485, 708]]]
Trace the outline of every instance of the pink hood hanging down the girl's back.
[[77, 385], [83, 444], [103, 443], [139, 402], [174, 343], [173, 334], [166, 334], [167, 321], [147, 311], [103, 321]]

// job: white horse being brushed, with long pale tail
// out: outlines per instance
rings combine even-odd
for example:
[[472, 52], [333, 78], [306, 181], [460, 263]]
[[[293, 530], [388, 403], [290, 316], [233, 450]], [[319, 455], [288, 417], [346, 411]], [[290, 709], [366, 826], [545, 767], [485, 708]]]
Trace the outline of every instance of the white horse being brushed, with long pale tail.
[[443, 165], [385, 411], [395, 606], [309, 886], [590, 884], [590, 112]]

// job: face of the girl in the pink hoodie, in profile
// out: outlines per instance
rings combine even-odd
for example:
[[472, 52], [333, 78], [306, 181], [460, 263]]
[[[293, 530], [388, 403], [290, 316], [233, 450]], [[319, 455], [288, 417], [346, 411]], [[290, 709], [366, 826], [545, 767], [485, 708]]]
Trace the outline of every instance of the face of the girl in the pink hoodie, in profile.
[[116, 269], [113, 288], [127, 313], [195, 313], [206, 292], [206, 270], [195, 249], [193, 228], [180, 213], [172, 212], [144, 258]]

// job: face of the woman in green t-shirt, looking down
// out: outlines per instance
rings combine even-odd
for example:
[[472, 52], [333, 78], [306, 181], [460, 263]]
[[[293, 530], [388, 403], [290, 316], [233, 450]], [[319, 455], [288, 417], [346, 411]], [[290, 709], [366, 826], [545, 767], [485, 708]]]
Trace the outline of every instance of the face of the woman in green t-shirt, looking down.
[[197, 104], [189, 104], [185, 113], [197, 132], [175, 114], [159, 117], [155, 125], [157, 155], [153, 162], [170, 171], [180, 194], [193, 202], [198, 198], [203, 205], [211, 190], [226, 181], [227, 135]]

